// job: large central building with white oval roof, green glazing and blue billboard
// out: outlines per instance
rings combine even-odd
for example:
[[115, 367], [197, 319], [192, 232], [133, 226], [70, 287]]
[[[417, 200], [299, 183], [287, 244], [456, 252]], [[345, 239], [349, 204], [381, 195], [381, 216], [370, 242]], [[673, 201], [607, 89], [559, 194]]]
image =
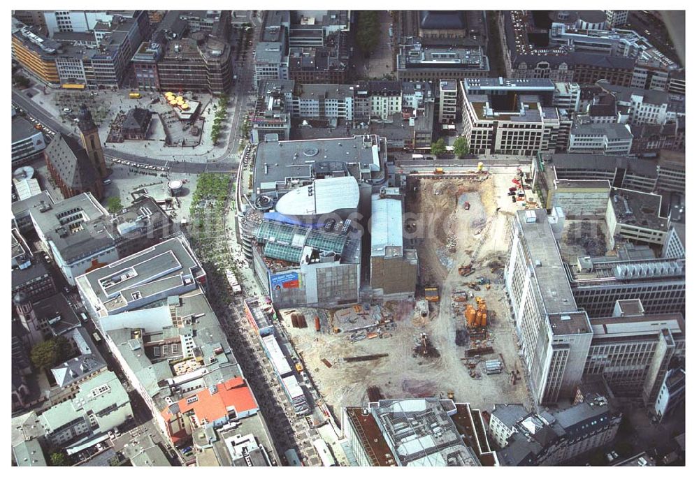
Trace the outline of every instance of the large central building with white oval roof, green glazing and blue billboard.
[[[238, 182], [238, 223], [275, 304], [359, 300], [361, 240], [351, 216], [361, 195], [384, 186], [386, 154], [386, 140], [375, 135], [257, 145], [252, 180]], [[318, 221], [323, 227], [312, 228]]]

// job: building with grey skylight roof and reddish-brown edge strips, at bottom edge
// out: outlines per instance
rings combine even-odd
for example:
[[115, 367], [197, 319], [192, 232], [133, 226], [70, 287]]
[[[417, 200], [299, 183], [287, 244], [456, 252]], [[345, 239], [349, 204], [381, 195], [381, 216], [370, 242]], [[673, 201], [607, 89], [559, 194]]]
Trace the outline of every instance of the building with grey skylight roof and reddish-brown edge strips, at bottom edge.
[[451, 399], [384, 399], [346, 407], [342, 430], [360, 466], [498, 465], [480, 411]]

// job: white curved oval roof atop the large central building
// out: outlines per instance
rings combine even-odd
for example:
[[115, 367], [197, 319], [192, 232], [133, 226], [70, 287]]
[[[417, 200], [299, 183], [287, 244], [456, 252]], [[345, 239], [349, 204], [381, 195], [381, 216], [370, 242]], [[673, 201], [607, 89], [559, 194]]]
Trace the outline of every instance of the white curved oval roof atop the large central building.
[[275, 205], [275, 210], [284, 215], [322, 215], [356, 209], [357, 205], [359, 185], [354, 177], [327, 177], [287, 192]]

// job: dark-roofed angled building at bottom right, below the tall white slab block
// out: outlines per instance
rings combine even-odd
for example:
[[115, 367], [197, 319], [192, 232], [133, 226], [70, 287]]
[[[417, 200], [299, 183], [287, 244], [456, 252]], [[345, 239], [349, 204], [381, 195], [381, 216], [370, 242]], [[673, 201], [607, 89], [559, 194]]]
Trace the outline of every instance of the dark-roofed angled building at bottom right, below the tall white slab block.
[[496, 404], [490, 432], [500, 443], [505, 466], [558, 465], [614, 440], [621, 414], [607, 398], [589, 397], [563, 411], [527, 413], [517, 404]]

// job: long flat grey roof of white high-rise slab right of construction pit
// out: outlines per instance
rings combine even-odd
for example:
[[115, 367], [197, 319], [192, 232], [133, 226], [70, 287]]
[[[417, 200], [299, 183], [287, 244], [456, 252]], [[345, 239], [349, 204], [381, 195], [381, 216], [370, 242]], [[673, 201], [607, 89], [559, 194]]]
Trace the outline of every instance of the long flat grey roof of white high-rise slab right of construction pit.
[[[535, 221], [526, 223], [527, 216]], [[561, 261], [559, 246], [549, 225], [546, 211], [518, 210], [517, 223], [521, 228], [524, 247], [539, 284], [545, 312], [565, 314], [577, 311], [568, 276]]]

